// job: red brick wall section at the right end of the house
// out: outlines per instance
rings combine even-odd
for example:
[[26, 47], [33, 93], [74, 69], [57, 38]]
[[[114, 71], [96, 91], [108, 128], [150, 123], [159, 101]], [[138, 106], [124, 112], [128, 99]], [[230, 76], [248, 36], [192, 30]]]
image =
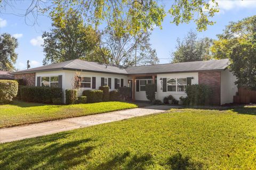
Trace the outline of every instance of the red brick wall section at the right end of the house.
[[199, 72], [198, 83], [209, 85], [212, 90], [212, 105], [220, 105], [220, 71]]

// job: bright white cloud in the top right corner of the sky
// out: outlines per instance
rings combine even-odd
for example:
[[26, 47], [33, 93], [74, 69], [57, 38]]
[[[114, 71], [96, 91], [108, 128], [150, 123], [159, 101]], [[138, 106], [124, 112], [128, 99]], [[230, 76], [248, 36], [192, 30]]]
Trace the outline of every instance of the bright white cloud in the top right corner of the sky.
[[[223, 1], [223, 0], [218, 0], [216, 1], [218, 2], [218, 6], [220, 8], [220, 10], [233, 10], [235, 8], [256, 8], [256, 1], [255, 0], [251, 0], [251, 1]], [[212, 2], [210, 1], [210, 4], [212, 4]]]

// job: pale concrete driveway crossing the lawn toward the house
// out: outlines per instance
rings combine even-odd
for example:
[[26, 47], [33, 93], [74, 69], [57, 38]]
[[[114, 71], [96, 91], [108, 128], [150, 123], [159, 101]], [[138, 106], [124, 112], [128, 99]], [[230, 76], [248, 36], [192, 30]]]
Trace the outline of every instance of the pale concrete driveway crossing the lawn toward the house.
[[173, 106], [147, 106], [142, 108], [126, 109], [109, 113], [88, 115], [82, 117], [66, 118], [58, 121], [16, 126], [0, 129], [0, 143], [11, 142], [26, 138], [39, 137], [46, 134], [58, 133], [92, 125], [120, 121], [131, 117], [145, 116], [165, 112]]

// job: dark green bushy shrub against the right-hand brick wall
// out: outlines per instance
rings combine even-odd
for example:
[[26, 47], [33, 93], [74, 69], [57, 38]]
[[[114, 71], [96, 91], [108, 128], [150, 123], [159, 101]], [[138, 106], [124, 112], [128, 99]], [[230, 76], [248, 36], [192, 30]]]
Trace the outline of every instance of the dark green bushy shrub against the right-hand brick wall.
[[187, 87], [186, 94], [189, 105], [209, 105], [212, 90], [205, 84], [193, 84]]

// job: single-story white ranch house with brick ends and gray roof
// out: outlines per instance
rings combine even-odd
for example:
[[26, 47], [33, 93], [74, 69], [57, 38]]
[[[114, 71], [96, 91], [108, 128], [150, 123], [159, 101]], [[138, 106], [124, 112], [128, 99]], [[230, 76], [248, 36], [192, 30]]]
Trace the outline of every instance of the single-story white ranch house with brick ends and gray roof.
[[233, 103], [237, 87], [236, 77], [227, 66], [229, 61], [211, 60], [174, 64], [121, 67], [111, 64], [70, 60], [57, 64], [36, 67], [14, 72], [15, 79], [24, 79], [28, 86], [61, 87], [63, 92], [71, 89], [76, 72], [82, 78], [79, 95], [86, 89], [99, 89], [109, 86], [110, 90], [119, 87], [132, 87], [133, 100], [147, 100], [145, 85], [156, 83], [156, 99], [163, 100], [172, 95], [179, 100], [186, 97], [189, 84], [207, 84], [212, 87], [212, 104]]

